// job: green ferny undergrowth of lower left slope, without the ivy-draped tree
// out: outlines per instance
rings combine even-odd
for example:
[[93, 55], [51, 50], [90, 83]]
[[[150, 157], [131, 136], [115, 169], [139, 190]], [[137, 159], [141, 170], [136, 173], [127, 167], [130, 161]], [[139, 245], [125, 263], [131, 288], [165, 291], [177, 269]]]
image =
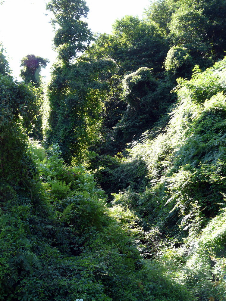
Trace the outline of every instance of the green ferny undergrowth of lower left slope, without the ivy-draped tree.
[[[132, 239], [141, 231], [137, 216], [120, 206], [108, 209], [92, 175], [81, 166], [65, 166], [58, 146], [40, 160], [36, 145], [33, 142], [32, 149], [46, 213], [37, 216], [32, 203], [1, 212], [1, 298], [147, 301], [157, 296]], [[70, 181], [67, 191], [65, 185], [49, 190], [58, 178]], [[163, 284], [160, 272], [158, 278]], [[174, 292], [173, 283], [170, 287]]]

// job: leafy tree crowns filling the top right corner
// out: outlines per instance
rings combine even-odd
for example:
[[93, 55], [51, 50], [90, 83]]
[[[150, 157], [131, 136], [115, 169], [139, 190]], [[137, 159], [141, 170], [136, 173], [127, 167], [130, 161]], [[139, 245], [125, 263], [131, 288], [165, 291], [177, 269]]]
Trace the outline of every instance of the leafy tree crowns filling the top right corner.
[[187, 48], [195, 64], [210, 67], [225, 52], [224, 0], [155, 0], [146, 10], [171, 46]]

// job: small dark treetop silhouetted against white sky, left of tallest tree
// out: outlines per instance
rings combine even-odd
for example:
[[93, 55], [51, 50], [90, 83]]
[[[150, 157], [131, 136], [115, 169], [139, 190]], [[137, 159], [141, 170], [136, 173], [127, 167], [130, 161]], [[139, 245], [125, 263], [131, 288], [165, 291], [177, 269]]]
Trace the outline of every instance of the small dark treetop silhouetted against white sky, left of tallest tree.
[[26, 83], [33, 83], [35, 87], [40, 86], [40, 71], [42, 68], [46, 68], [48, 59], [36, 56], [34, 54], [28, 54], [21, 60], [20, 76]]

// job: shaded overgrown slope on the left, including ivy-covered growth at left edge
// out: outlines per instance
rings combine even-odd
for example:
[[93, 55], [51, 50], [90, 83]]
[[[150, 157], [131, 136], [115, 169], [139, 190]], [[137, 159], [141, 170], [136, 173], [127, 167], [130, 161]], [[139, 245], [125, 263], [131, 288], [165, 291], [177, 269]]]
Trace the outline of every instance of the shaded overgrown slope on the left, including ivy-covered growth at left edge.
[[109, 208], [93, 176], [66, 166], [58, 145], [30, 145], [35, 95], [2, 62], [0, 300], [190, 301], [140, 257], [132, 211]]

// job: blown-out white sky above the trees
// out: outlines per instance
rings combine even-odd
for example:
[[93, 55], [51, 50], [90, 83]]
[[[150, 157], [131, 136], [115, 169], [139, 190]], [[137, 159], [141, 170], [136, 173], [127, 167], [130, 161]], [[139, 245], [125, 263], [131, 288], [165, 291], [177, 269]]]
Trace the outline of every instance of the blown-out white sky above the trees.
[[[1, 2], [1, 1], [0, 1]], [[42, 71], [49, 77], [56, 53], [52, 50], [54, 36], [51, 15], [46, 11], [48, 0], [4, 0], [0, 5], [0, 42], [15, 78], [20, 80], [20, 60], [27, 54], [48, 58], [50, 64]], [[93, 32], [111, 33], [111, 25], [118, 18], [133, 15], [142, 18], [149, 0], [87, 0], [89, 28]]]

